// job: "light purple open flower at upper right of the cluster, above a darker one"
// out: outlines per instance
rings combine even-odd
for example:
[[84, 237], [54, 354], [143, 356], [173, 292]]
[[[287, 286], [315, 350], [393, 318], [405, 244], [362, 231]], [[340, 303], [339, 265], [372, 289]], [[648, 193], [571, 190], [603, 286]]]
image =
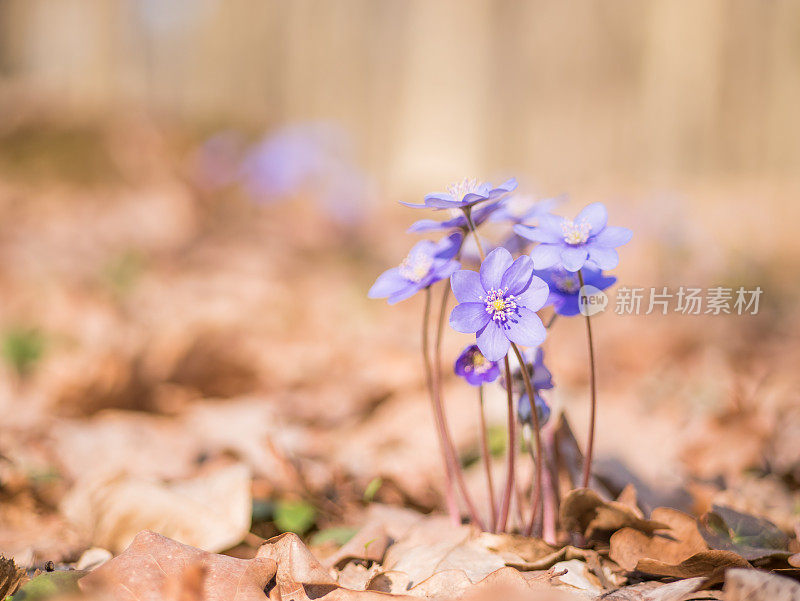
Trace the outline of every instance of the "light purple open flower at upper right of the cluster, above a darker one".
[[607, 221], [605, 206], [593, 202], [572, 221], [544, 215], [539, 217], [538, 227], [515, 225], [514, 231], [523, 238], [540, 242], [531, 252], [536, 269], [561, 265], [567, 271], [578, 271], [587, 261], [600, 269], [614, 269], [619, 263], [614, 249], [628, 243], [633, 232], [624, 227], [609, 227]]

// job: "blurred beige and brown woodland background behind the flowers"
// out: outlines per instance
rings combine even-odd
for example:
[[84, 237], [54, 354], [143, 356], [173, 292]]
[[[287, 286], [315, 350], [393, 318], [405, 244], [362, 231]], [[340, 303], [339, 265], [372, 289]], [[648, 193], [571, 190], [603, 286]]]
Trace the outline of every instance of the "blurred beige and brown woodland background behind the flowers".
[[[598, 452], [646, 503], [792, 524], [798, 106], [791, 0], [0, 0], [0, 550], [438, 507], [421, 299], [365, 295], [432, 216], [397, 201], [465, 176], [605, 202], [624, 285], [764, 290], [757, 316], [601, 316]], [[545, 349], [582, 442], [583, 324]], [[447, 386], [470, 464], [474, 391]]]

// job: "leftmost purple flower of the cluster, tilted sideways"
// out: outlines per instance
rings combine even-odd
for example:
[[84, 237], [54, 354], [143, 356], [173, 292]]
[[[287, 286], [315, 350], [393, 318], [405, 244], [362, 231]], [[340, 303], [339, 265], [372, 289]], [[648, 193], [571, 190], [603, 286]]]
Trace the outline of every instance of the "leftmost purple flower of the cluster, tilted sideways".
[[439, 242], [417, 242], [399, 267], [384, 271], [369, 289], [369, 298], [388, 298], [393, 305], [415, 295], [428, 286], [449, 278], [459, 267], [453, 257], [458, 254], [463, 240], [455, 233]]

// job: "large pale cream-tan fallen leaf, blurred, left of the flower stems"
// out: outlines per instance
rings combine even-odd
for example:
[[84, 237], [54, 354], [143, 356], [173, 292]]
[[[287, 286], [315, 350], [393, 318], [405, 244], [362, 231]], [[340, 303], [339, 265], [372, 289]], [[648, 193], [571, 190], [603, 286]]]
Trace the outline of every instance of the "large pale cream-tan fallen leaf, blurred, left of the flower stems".
[[80, 483], [62, 513], [96, 546], [119, 552], [142, 530], [206, 551], [240, 542], [250, 529], [250, 473], [243, 465], [161, 483], [118, 474]]

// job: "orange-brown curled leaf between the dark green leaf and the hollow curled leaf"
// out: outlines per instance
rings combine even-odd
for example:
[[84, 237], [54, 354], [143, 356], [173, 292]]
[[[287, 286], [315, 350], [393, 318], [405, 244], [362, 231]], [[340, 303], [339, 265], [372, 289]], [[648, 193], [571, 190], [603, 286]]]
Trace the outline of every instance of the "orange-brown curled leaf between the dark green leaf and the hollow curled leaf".
[[690, 515], [658, 507], [653, 510], [651, 517], [666, 524], [669, 529], [646, 534], [633, 528], [623, 528], [611, 536], [609, 557], [625, 570], [635, 570], [640, 559], [677, 564], [708, 549], [697, 529], [696, 520]]

